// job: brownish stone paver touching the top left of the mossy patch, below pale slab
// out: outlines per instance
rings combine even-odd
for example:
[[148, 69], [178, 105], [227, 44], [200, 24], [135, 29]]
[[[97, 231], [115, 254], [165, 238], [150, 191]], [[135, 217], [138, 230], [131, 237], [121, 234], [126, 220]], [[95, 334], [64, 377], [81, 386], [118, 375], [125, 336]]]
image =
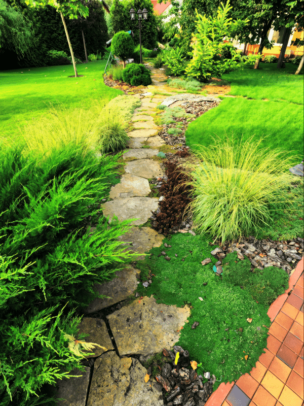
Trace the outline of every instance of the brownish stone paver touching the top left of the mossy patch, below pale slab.
[[[122, 242], [127, 242], [122, 245], [126, 245], [128, 250], [133, 252], [138, 252], [139, 254], [144, 254], [151, 248], [160, 247], [164, 239], [163, 234], [159, 234], [156, 230], [150, 227], [132, 227], [129, 232], [121, 235], [118, 240]], [[130, 247], [128, 243], [132, 243]], [[140, 255], [138, 259], [144, 259], [145, 255]]]

